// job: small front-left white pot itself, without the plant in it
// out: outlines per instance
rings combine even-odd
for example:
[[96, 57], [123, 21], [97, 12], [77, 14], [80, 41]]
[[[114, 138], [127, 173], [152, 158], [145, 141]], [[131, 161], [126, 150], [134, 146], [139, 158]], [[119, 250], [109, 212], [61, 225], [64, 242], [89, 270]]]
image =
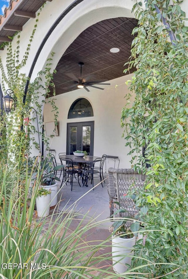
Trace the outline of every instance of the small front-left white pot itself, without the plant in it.
[[50, 194], [36, 198], [36, 209], [38, 217], [48, 216], [50, 213]]

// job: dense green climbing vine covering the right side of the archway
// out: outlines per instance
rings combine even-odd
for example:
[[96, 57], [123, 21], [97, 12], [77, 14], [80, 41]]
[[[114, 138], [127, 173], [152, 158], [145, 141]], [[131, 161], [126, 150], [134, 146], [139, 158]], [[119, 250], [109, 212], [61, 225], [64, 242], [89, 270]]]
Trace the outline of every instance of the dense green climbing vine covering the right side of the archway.
[[127, 96], [122, 127], [132, 167], [147, 173], [135, 200], [146, 223], [144, 241], [135, 246], [134, 266], [142, 266], [136, 278], [188, 277], [188, 28], [182, 3], [148, 0], [133, 7], [137, 37], [125, 72], [137, 69], [127, 82], [135, 101]]

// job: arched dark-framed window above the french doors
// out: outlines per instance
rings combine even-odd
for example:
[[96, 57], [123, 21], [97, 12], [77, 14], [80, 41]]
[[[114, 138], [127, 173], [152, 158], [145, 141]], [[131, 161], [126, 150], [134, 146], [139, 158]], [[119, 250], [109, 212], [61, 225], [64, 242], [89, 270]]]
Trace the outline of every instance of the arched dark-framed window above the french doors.
[[68, 119], [93, 116], [93, 108], [85, 98], [79, 98], [71, 105], [68, 112]]

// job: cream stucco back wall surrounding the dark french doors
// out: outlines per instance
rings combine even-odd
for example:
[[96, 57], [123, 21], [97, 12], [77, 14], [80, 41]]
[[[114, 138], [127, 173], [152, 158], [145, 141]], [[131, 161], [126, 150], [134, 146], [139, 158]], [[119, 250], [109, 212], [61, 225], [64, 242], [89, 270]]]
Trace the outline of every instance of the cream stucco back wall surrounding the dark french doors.
[[[56, 150], [58, 160], [59, 152], [66, 152], [66, 132], [67, 123], [94, 121], [94, 156], [103, 154], [118, 156], [120, 168], [130, 168], [130, 151], [125, 147], [125, 140], [122, 138], [122, 128], [120, 127], [121, 110], [125, 104], [125, 95], [128, 92], [125, 81], [130, 76], [123, 76], [110, 81], [110, 86], [104, 86], [104, 90], [90, 88], [90, 92], [85, 89], [77, 89], [56, 96], [56, 105], [59, 108], [59, 128], [60, 135], [51, 140], [51, 149]], [[115, 85], [118, 85], [115, 88]], [[94, 116], [89, 118], [67, 119], [68, 111], [72, 103], [78, 98], [87, 98], [93, 106]], [[133, 98], [132, 98], [133, 100]], [[53, 121], [53, 113], [49, 104], [44, 106], [44, 123]], [[59, 160], [58, 160], [59, 161]], [[112, 159], [107, 159], [106, 168], [114, 166]], [[117, 164], [116, 164], [117, 167]]]

